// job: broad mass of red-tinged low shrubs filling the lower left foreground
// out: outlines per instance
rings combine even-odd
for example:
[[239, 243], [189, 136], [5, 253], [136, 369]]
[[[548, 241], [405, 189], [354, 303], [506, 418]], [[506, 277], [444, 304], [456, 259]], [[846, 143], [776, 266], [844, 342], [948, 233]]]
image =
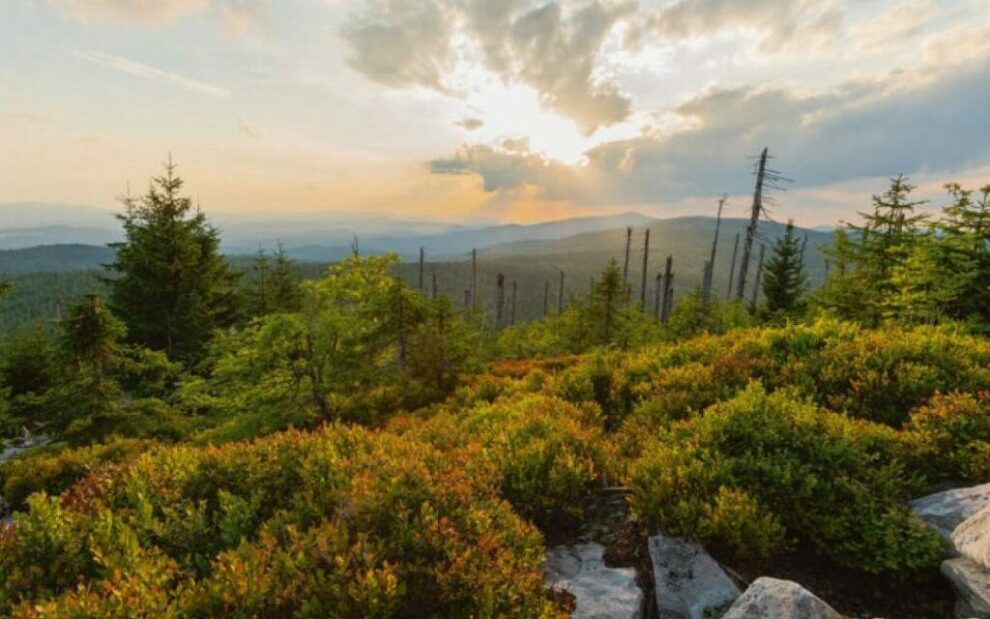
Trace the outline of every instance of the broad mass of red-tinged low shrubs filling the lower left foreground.
[[0, 612], [562, 616], [497, 479], [478, 453], [340, 426], [163, 448], [30, 499], [0, 540]]

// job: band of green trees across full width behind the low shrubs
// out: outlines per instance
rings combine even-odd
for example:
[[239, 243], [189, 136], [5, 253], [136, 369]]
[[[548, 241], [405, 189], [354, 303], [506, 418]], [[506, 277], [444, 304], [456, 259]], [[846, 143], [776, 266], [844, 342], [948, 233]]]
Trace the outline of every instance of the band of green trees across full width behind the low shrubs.
[[951, 204], [931, 218], [915, 212], [921, 203], [907, 179], [893, 179], [861, 223], [836, 231], [829, 275], [816, 291], [789, 222], [755, 277], [758, 302], [722, 302], [702, 285], [669, 312], [659, 300], [650, 311], [645, 290], [633, 298], [613, 260], [586, 295], [561, 297], [556, 311], [548, 286], [543, 319], [493, 324], [474, 303], [455, 306], [407, 285], [396, 256], [361, 256], [357, 247], [311, 281], [281, 246], [259, 251], [242, 282], [175, 171], [170, 162], [147, 194], [124, 200], [125, 239], [102, 275], [106, 299], [88, 294], [54, 336], [37, 326], [4, 346], [4, 433], [43, 429], [88, 444], [376, 423], [383, 411], [444, 399], [493, 358], [632, 348], [821, 313], [869, 326], [961, 321], [982, 329], [990, 320], [990, 187], [948, 185]]

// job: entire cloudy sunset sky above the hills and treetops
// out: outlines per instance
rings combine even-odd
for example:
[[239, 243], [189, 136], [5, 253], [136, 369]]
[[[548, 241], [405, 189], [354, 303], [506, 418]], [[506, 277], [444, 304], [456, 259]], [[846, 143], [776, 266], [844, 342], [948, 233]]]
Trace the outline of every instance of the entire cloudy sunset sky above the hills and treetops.
[[990, 184], [990, 0], [2, 0], [0, 203], [854, 219]]

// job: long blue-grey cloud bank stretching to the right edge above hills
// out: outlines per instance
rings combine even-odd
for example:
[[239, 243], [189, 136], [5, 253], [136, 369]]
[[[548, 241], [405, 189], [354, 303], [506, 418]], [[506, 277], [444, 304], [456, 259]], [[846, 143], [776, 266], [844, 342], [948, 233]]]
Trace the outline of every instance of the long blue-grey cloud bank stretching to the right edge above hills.
[[713, 88], [674, 108], [684, 128], [605, 142], [578, 166], [504, 145], [475, 145], [431, 167], [477, 174], [488, 192], [526, 188], [547, 199], [613, 205], [744, 193], [752, 184], [749, 158], [764, 146], [803, 187], [899, 172], [948, 178], [990, 161], [988, 58], [820, 93]]

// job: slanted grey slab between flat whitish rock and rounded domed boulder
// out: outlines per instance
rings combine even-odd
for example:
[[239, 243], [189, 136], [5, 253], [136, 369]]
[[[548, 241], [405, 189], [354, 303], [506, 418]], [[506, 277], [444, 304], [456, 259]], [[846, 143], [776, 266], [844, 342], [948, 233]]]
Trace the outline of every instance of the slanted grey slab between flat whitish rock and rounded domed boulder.
[[656, 535], [649, 547], [659, 619], [702, 619], [739, 597], [739, 587], [697, 544]]

